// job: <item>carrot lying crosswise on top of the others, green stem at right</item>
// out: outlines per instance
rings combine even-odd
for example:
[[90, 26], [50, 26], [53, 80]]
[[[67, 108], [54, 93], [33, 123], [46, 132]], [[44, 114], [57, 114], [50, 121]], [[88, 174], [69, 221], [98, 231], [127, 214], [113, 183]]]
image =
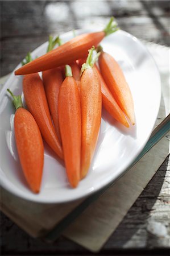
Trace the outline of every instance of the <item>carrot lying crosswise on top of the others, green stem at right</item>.
[[26, 75], [70, 64], [74, 60], [85, 57], [89, 48], [98, 46], [99, 42], [101, 42], [105, 36], [117, 30], [117, 24], [113, 22], [113, 18], [111, 18], [105, 30], [76, 36], [62, 46], [53, 49], [45, 55], [31, 61], [31, 63], [17, 69], [15, 75]]

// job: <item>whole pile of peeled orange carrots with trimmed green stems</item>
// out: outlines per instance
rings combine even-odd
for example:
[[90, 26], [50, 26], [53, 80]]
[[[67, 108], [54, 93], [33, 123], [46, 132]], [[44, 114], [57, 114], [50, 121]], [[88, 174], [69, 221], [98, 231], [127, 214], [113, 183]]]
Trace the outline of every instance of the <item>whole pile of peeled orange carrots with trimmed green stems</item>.
[[[92, 162], [102, 105], [122, 125], [134, 125], [134, 103], [125, 76], [117, 61], [99, 46], [117, 30], [111, 18], [105, 30], [76, 36], [64, 44], [59, 37], [53, 40], [50, 36], [47, 53], [35, 60], [28, 53], [24, 65], [15, 71], [15, 75], [24, 75], [28, 108], [8, 89], [16, 108], [15, 140], [33, 192], [40, 191], [42, 181], [43, 139], [64, 160], [69, 183], [75, 188]], [[53, 49], [56, 44], [59, 46]]]

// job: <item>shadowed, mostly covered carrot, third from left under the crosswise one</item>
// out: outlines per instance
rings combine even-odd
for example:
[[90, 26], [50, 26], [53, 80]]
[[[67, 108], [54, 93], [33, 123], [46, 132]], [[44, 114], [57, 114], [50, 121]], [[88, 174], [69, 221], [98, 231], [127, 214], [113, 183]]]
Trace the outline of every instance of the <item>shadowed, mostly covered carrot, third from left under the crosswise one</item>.
[[58, 112], [59, 89], [63, 82], [63, 74], [60, 68], [43, 71], [43, 84], [47, 96], [49, 111], [52, 116], [57, 137], [61, 142]]

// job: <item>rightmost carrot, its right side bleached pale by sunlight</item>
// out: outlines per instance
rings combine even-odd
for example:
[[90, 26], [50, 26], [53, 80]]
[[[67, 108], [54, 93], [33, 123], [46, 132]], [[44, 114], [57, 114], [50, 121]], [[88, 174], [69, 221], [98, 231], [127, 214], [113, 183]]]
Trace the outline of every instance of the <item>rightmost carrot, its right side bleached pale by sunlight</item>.
[[117, 61], [109, 55], [109, 53], [101, 50], [99, 56], [99, 68], [103, 79], [105, 80], [110, 92], [117, 101], [120, 108], [130, 119], [132, 125], [135, 124], [134, 102], [130, 88], [123, 75], [122, 69], [119, 67]]

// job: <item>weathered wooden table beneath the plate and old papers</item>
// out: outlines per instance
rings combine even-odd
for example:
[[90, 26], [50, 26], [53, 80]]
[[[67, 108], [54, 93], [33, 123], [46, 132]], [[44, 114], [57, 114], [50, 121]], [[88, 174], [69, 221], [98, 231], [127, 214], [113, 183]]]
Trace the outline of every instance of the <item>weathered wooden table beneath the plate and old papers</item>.
[[[48, 39], [85, 24], [107, 22], [114, 15], [119, 27], [140, 39], [166, 46], [169, 38], [169, 1], [1, 1], [1, 76]], [[98, 255], [168, 255], [169, 160], [128, 211]], [[147, 221], [165, 225], [162, 239], [147, 232]], [[60, 237], [48, 245], [33, 239], [1, 213], [2, 255], [90, 255]]]

